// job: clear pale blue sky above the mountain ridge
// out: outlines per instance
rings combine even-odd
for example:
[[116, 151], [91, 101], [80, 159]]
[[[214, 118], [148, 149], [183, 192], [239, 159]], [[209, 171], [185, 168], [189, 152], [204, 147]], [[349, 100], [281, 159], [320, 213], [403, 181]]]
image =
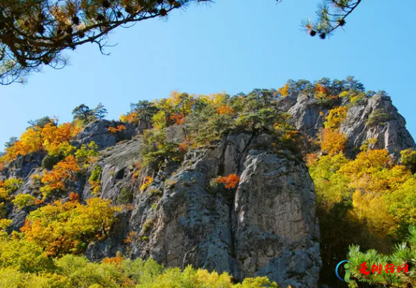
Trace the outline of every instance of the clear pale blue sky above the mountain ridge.
[[[314, 0], [218, 0], [176, 11], [111, 33], [111, 56], [97, 46], [69, 53], [71, 65], [44, 69], [28, 84], [0, 87], [0, 145], [18, 136], [27, 120], [58, 115], [71, 121], [79, 104], [102, 102], [109, 119], [130, 102], [171, 91], [208, 94], [279, 88], [288, 79], [344, 79], [384, 89], [416, 136], [416, 1], [364, 1], [345, 31], [320, 40], [300, 31], [314, 17]], [[0, 146], [2, 149], [2, 147]]]

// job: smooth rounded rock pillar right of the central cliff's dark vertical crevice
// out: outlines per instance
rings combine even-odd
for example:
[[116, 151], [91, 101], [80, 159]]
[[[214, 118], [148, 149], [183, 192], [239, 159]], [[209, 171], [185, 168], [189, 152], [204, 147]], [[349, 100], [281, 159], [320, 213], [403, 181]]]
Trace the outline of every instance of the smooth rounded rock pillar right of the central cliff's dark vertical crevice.
[[319, 229], [312, 180], [303, 165], [250, 151], [235, 194], [235, 253], [242, 277], [281, 287], [315, 287]]

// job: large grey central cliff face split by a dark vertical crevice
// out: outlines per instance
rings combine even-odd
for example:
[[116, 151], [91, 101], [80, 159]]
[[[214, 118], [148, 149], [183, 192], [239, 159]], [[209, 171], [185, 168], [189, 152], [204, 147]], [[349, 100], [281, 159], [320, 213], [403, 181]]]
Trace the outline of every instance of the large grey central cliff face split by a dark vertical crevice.
[[[116, 201], [121, 187], [129, 187], [133, 205], [120, 215], [116, 232], [91, 245], [87, 256], [97, 260], [130, 251], [167, 266], [191, 264], [238, 279], [267, 275], [281, 287], [317, 287], [322, 263], [313, 183], [289, 151], [272, 154], [271, 142], [267, 134], [237, 134], [192, 150], [181, 165], [166, 163], [153, 173], [143, 192], [129, 168], [139, 159], [140, 140], [106, 152], [101, 196]], [[212, 184], [218, 175], [232, 173], [240, 177], [238, 189]], [[142, 171], [145, 175], [152, 171]]]

